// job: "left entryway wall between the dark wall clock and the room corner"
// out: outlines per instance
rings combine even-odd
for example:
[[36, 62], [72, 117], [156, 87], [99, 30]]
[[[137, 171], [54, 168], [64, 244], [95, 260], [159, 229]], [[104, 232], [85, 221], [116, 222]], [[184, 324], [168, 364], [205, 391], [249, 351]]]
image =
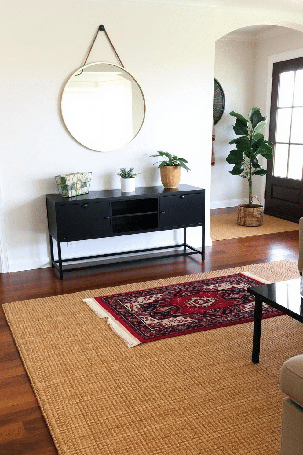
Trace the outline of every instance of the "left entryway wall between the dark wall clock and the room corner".
[[[247, 198], [247, 180], [228, 173], [232, 166], [226, 162], [230, 150], [228, 144], [236, 137], [232, 125], [235, 118], [229, 115], [235, 111], [246, 116], [253, 107], [254, 97], [254, 43], [246, 41], [218, 40], [215, 50], [214, 76], [222, 85], [225, 95], [225, 109], [215, 126], [215, 164], [211, 167], [211, 208], [234, 207]], [[228, 56], [228, 58], [226, 58]]]

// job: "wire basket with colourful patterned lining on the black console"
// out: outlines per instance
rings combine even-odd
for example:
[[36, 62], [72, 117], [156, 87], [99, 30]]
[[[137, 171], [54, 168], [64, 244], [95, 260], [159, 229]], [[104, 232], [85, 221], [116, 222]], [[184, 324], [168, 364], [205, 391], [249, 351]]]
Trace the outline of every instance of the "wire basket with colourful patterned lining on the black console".
[[70, 174], [55, 175], [61, 196], [79, 196], [89, 192], [91, 172], [71, 172]]

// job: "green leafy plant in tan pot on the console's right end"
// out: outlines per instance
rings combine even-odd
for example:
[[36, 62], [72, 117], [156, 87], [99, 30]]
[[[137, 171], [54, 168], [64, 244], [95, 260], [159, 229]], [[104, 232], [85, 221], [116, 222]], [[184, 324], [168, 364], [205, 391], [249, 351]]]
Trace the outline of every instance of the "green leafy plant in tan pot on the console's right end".
[[[158, 169], [160, 169], [161, 182], [164, 188], [176, 188], [180, 183], [181, 178], [181, 167], [189, 172], [189, 167], [185, 163], [187, 161], [184, 158], [178, 158], [176, 155], [172, 155], [169, 152], [162, 152], [157, 150], [157, 155], [150, 155], [150, 157], [160, 157], [164, 161], [158, 161], [160, 163]], [[157, 164], [154, 163], [154, 164]]]

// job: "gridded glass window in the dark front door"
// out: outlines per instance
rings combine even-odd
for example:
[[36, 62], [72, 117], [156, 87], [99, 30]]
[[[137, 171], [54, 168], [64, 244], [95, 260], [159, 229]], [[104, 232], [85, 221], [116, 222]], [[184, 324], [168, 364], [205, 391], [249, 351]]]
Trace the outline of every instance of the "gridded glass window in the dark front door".
[[302, 180], [302, 69], [280, 73], [273, 157], [273, 176]]

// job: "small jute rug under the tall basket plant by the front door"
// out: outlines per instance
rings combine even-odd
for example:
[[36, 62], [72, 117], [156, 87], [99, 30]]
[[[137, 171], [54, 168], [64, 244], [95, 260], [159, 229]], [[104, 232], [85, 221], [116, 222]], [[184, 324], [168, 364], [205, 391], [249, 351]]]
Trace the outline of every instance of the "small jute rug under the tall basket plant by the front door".
[[270, 217], [269, 215], [263, 215], [263, 224], [261, 226], [253, 227], [240, 226], [237, 223], [237, 213], [212, 215], [210, 217], [210, 237], [212, 240], [226, 240], [228, 238], [298, 231], [298, 229], [298, 223]]

